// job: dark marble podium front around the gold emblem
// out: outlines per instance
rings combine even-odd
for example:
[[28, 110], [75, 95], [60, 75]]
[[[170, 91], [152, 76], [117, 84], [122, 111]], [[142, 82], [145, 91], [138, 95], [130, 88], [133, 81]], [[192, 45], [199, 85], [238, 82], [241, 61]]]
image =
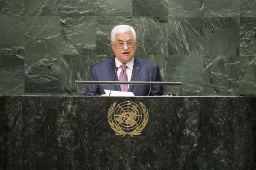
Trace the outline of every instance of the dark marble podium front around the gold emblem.
[[[114, 103], [142, 102], [140, 136], [116, 136]], [[255, 97], [0, 97], [0, 170], [255, 170]]]

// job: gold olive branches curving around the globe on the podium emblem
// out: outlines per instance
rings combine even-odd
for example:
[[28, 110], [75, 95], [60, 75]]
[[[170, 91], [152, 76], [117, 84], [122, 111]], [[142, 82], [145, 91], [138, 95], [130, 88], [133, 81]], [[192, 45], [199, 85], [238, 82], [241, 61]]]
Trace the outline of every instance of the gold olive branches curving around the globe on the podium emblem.
[[141, 102], [139, 103], [143, 111], [143, 121], [132, 132], [125, 132], [124, 130], [122, 130], [121, 127], [119, 127], [118, 125], [116, 125], [116, 123], [114, 123], [113, 112], [116, 106], [116, 102], [113, 105], [111, 105], [111, 107], [108, 109], [108, 123], [110, 127], [116, 132], [116, 135], [122, 136], [122, 137], [124, 137], [125, 135], [130, 135], [131, 137], [134, 137], [141, 134], [142, 130], [145, 128], [145, 126], [148, 123], [148, 109]]

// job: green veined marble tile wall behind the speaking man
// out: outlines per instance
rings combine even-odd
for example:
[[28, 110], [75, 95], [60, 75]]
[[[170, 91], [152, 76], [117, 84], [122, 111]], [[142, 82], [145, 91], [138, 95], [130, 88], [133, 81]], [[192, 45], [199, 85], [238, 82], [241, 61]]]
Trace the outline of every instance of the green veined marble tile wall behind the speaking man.
[[0, 96], [74, 95], [118, 24], [183, 95], [256, 95], [255, 0], [0, 0]]

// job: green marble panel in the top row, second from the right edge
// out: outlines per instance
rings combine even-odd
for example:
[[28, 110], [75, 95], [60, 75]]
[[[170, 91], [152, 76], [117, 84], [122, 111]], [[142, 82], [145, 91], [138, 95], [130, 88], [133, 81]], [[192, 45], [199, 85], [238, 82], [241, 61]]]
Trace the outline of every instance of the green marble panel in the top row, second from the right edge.
[[204, 0], [204, 17], [238, 17], [240, 0]]

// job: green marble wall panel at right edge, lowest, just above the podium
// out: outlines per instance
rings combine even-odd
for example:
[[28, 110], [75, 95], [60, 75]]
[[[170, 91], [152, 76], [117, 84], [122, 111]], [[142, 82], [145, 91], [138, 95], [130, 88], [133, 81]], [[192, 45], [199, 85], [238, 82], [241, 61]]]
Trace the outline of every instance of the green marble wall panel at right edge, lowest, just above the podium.
[[256, 57], [239, 57], [239, 94], [256, 95]]

